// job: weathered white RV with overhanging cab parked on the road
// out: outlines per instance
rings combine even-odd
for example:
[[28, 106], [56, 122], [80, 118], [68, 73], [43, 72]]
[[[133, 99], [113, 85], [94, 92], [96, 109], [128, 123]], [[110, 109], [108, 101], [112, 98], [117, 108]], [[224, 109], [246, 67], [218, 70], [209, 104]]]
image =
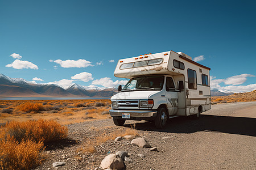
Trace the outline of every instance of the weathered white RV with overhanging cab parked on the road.
[[168, 118], [199, 118], [210, 109], [209, 71], [174, 51], [120, 59], [114, 75], [130, 80], [111, 97], [114, 124], [154, 120], [156, 128], [164, 128]]

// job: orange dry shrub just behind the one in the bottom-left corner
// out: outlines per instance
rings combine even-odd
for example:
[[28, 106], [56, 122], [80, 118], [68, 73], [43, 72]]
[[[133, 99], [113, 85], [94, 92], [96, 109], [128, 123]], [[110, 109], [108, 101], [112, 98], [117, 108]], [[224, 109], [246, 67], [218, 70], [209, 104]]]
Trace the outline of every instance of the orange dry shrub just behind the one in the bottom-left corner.
[[53, 120], [29, 120], [26, 122], [13, 121], [6, 123], [0, 133], [5, 138], [13, 137], [19, 143], [22, 141], [34, 141], [49, 143], [67, 137], [68, 128], [61, 126]]

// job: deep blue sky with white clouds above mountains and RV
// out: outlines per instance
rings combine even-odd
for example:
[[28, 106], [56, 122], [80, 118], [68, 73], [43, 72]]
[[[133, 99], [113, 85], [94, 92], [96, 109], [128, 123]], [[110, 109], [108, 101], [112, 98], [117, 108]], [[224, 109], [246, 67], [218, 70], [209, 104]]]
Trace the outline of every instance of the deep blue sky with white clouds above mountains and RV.
[[174, 50], [201, 56], [212, 88], [251, 91], [255, 16], [256, 1], [0, 1], [0, 73], [114, 87], [118, 59]]

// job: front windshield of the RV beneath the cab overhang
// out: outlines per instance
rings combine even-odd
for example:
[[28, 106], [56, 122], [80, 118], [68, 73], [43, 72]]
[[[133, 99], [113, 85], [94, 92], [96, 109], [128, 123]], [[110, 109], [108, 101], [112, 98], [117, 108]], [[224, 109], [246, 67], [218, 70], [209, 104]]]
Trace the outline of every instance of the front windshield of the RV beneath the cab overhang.
[[162, 90], [164, 76], [141, 76], [132, 78], [122, 91]]

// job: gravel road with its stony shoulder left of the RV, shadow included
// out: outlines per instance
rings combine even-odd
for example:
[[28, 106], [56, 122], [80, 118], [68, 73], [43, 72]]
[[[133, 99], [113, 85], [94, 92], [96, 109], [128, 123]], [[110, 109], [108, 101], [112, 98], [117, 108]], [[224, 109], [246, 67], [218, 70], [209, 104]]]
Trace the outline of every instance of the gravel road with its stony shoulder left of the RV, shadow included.
[[[256, 167], [256, 102], [212, 105], [199, 120], [177, 117], [168, 121], [166, 129], [154, 128], [152, 122], [136, 123], [136, 129], [158, 152], [131, 146], [123, 139], [108, 141], [94, 154], [78, 152], [85, 138], [97, 136], [95, 129], [118, 129], [112, 119], [68, 125], [69, 139], [49, 146], [48, 160], [37, 169], [54, 169], [52, 163], [65, 161], [59, 169], [100, 169], [106, 154], [127, 151], [133, 163], [126, 169], [255, 169]], [[113, 127], [113, 128], [111, 128]], [[144, 154], [141, 158], [138, 154]]]

